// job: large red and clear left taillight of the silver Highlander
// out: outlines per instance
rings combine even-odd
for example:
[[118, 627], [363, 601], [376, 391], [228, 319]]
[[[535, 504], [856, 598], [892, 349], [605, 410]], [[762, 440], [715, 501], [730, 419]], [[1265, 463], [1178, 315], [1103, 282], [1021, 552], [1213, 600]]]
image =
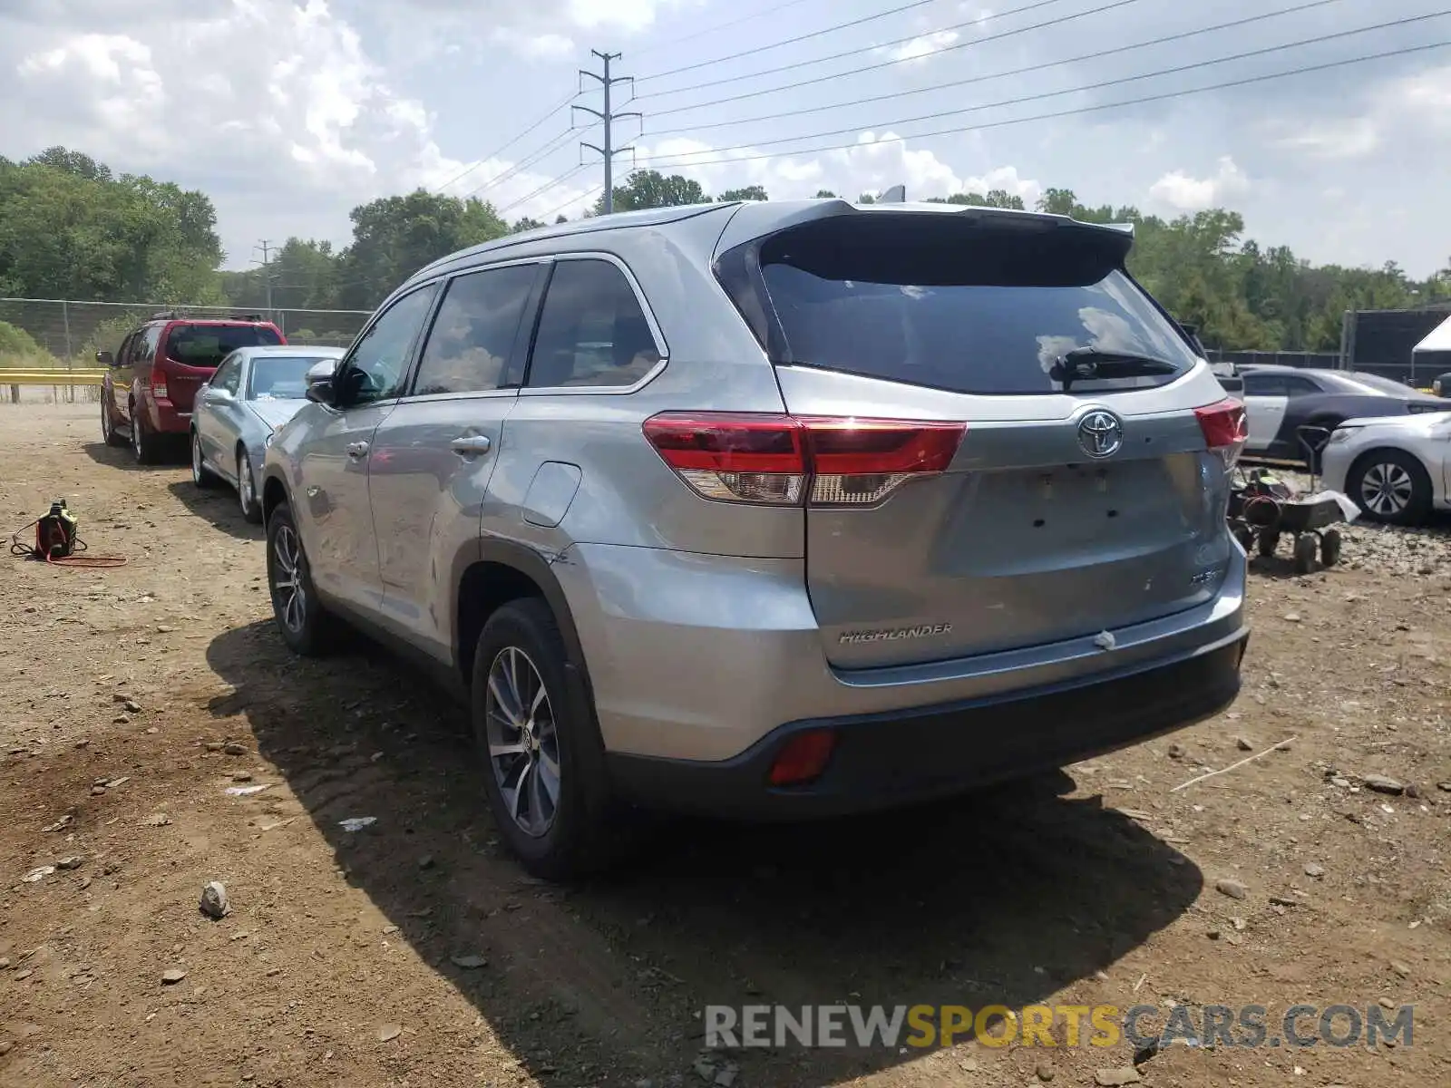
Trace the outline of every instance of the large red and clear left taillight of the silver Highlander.
[[707, 499], [860, 506], [952, 463], [966, 424], [663, 412], [644, 435]]

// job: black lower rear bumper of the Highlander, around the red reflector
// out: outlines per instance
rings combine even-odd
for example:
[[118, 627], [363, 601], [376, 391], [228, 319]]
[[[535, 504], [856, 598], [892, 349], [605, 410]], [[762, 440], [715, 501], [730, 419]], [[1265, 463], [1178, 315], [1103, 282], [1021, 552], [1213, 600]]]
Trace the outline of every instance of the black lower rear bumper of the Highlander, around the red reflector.
[[[622, 799], [743, 820], [798, 820], [891, 808], [1075, 763], [1225, 709], [1239, 693], [1249, 632], [1126, 673], [917, 709], [792, 721], [727, 760], [611, 753]], [[782, 746], [804, 730], [837, 741], [810, 785], [768, 782]]]

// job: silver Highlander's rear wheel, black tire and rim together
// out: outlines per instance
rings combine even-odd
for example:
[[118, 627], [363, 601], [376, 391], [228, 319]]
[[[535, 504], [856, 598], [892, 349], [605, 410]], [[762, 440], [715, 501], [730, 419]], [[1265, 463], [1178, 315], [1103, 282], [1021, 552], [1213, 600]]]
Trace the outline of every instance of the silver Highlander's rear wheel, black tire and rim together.
[[540, 598], [502, 605], [473, 656], [470, 712], [493, 823], [521, 865], [547, 881], [598, 872], [628, 840], [609, 804], [593, 709], [570, 698], [566, 660]]

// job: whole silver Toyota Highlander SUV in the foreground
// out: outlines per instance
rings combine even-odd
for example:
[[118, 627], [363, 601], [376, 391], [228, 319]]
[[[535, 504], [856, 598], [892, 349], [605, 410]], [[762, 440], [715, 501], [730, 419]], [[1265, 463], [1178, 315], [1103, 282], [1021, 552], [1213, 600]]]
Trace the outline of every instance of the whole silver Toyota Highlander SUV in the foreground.
[[454, 254], [267, 451], [277, 624], [347, 618], [469, 699], [501, 834], [961, 792], [1239, 691], [1244, 409], [1127, 229], [726, 203]]

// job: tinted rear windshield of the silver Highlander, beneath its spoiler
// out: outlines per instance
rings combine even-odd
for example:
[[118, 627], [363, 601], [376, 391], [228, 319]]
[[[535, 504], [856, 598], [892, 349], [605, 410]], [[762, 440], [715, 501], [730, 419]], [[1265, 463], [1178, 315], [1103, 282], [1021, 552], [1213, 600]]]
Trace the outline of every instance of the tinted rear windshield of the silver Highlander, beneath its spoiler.
[[[759, 244], [762, 309], [779, 331], [768, 350], [778, 364], [1010, 395], [1062, 392], [1061, 358], [1090, 348], [1161, 366], [1100, 366], [1113, 376], [1075, 377], [1074, 392], [1161, 386], [1196, 355], [1123, 271], [1126, 248], [1106, 231], [1032, 218], [815, 221]], [[741, 309], [747, 321], [762, 312]]]

